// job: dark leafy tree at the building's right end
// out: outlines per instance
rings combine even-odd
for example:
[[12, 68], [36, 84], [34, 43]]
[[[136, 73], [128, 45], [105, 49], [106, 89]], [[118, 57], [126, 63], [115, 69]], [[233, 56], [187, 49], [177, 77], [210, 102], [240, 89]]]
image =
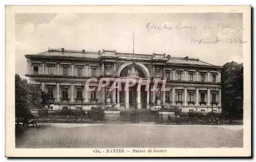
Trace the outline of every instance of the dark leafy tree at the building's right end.
[[243, 64], [228, 62], [222, 70], [222, 108], [228, 118], [243, 117]]

